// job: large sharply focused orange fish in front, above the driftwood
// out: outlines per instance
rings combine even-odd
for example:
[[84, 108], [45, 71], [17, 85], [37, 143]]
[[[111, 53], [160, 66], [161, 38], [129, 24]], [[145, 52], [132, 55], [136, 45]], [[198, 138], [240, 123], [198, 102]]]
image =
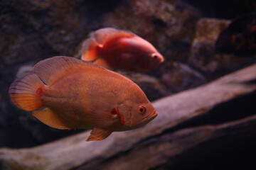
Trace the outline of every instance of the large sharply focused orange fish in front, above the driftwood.
[[139, 128], [157, 115], [142, 89], [108, 69], [73, 57], [51, 57], [18, 77], [11, 101], [46, 125], [92, 129], [90, 140]]

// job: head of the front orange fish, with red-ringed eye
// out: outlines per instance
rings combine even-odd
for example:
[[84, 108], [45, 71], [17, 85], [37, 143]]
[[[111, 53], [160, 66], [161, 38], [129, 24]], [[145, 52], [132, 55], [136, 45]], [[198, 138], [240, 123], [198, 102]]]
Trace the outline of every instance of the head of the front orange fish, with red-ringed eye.
[[134, 88], [131, 88], [131, 91], [127, 91], [127, 93], [129, 98], [119, 106], [119, 114], [123, 116], [121, 122], [124, 129], [139, 128], [156, 118], [156, 109], [139, 86], [134, 84]]

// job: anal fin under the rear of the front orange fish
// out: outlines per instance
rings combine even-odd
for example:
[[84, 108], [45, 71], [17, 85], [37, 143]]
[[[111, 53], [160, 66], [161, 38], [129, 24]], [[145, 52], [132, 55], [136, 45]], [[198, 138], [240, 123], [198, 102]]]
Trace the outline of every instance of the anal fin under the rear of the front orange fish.
[[46, 125], [57, 128], [57, 129], [73, 129], [75, 128], [74, 123], [61, 118], [58, 113], [55, 113], [50, 108], [44, 108], [41, 111], [33, 111], [33, 116], [38, 118], [41, 122], [45, 123]]

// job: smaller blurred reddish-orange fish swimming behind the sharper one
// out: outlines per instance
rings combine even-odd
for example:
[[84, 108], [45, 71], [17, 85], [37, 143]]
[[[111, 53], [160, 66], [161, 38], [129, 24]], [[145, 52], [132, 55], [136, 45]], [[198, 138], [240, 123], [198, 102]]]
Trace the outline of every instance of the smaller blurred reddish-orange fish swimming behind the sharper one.
[[164, 57], [148, 41], [134, 33], [115, 28], [102, 28], [90, 33], [82, 45], [82, 60], [107, 69], [127, 71], [156, 68]]

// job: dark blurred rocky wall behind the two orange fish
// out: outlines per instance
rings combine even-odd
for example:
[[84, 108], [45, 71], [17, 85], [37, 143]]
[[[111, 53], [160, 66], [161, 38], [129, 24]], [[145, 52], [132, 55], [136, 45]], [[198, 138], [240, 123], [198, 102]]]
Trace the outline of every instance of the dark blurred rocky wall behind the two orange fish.
[[90, 31], [107, 26], [131, 30], [164, 55], [164, 64], [154, 70], [121, 72], [154, 101], [255, 63], [253, 56], [214, 50], [230, 19], [255, 9], [250, 0], [0, 1], [0, 147], [33, 147], [81, 131], [49, 128], [16, 108], [8, 90], [40, 60], [78, 57]]

